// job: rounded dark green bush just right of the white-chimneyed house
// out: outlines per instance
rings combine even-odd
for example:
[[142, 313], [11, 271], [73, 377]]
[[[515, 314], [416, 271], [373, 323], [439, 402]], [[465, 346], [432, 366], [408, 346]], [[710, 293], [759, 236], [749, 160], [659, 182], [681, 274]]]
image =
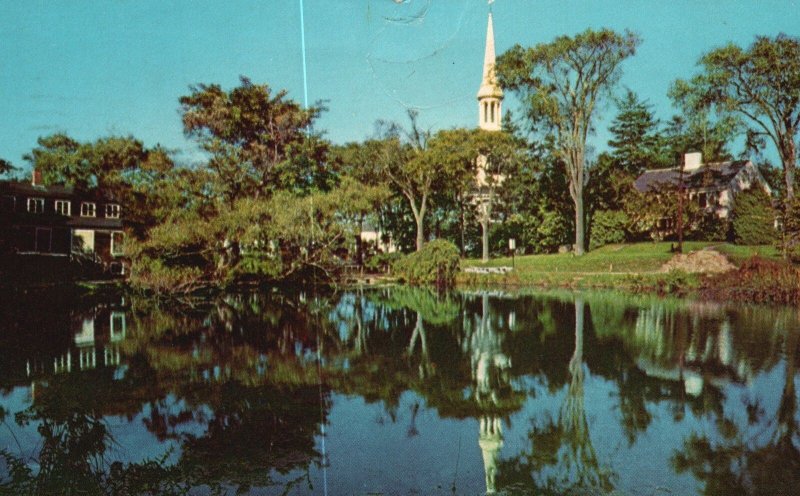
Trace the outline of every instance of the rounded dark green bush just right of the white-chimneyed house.
[[777, 239], [775, 210], [761, 188], [739, 193], [733, 208], [733, 237], [740, 245], [766, 245]]

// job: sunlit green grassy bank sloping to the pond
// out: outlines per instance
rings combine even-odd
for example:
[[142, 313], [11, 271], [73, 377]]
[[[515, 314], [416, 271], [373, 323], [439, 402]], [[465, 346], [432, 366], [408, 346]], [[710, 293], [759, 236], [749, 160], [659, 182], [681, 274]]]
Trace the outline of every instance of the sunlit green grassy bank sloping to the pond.
[[[462, 285], [504, 285], [554, 288], [616, 288], [634, 291], [692, 290], [700, 286], [697, 274], [663, 273], [661, 266], [672, 258], [672, 244], [634, 243], [604, 246], [575, 257], [570, 253], [501, 257], [486, 264], [465, 260], [462, 267], [511, 267], [507, 274], [469, 274], [461, 272], [457, 283]], [[714, 249], [734, 264], [740, 265], [754, 255], [778, 259], [772, 246], [738, 246], [728, 243], [687, 242], [684, 253]]]

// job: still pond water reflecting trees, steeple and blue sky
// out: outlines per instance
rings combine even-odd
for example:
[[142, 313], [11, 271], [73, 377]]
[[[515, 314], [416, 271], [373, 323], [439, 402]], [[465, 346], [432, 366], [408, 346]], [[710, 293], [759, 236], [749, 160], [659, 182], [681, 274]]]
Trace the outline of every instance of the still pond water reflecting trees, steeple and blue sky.
[[0, 492], [800, 494], [800, 311], [389, 288], [0, 303]]

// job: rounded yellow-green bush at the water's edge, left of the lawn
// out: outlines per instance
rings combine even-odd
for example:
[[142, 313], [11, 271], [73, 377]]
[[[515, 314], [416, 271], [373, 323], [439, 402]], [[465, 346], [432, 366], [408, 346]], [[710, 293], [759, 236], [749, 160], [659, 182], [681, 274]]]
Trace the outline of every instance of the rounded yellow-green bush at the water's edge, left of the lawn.
[[398, 260], [394, 271], [410, 284], [435, 284], [442, 288], [453, 285], [460, 262], [456, 245], [437, 239]]

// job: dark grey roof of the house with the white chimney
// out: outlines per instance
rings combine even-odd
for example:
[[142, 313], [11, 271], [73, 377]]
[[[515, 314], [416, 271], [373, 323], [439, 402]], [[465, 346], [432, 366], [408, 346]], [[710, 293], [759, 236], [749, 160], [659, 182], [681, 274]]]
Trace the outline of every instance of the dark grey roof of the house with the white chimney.
[[[683, 181], [688, 189], [721, 189], [730, 184], [742, 169], [750, 162], [748, 160], [735, 160], [731, 162], [718, 162], [703, 164], [691, 171], [684, 170]], [[677, 186], [680, 182], [680, 168], [654, 169], [642, 173], [636, 178], [634, 186], [642, 193], [653, 191], [659, 187]]]

